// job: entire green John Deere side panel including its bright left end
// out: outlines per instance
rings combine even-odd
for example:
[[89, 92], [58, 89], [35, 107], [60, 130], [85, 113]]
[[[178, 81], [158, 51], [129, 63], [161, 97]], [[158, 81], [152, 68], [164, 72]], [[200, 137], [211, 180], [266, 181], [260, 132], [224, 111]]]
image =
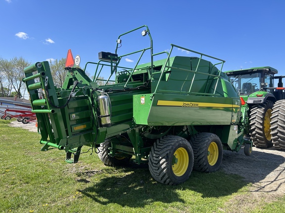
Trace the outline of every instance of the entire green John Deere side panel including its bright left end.
[[[134, 96], [134, 119], [150, 126], [230, 125], [240, 116], [240, 100], [224, 97], [149, 94]], [[143, 104], [144, 102], [144, 104]]]

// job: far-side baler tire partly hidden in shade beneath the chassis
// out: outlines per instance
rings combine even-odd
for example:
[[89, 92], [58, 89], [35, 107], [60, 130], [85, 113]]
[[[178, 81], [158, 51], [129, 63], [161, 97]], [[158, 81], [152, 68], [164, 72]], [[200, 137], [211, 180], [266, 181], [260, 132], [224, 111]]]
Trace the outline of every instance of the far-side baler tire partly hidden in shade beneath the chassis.
[[98, 147], [98, 157], [99, 159], [104, 163], [106, 166], [123, 166], [124, 164], [128, 163], [132, 156], [130, 157], [123, 157], [123, 158], [117, 158], [117, 157], [111, 157], [109, 155], [110, 150], [109, 147], [111, 146], [110, 140], [106, 140], [102, 143], [100, 143], [100, 146]]

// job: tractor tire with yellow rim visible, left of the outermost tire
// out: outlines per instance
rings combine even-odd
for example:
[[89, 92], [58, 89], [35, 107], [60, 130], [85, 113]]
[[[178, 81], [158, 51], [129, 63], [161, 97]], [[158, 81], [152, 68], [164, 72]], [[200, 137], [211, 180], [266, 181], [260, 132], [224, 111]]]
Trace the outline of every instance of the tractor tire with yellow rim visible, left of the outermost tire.
[[270, 134], [272, 108], [273, 102], [265, 101], [250, 110], [249, 132], [256, 147], [268, 148], [273, 145]]

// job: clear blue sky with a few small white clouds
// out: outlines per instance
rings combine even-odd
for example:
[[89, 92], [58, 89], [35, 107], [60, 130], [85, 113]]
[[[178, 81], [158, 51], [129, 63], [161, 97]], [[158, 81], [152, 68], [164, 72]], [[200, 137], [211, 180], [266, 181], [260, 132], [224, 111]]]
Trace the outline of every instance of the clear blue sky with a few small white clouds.
[[[0, 0], [0, 57], [36, 63], [71, 49], [84, 68], [114, 52], [120, 34], [147, 25], [154, 53], [173, 43], [225, 60], [223, 71], [271, 66], [285, 75], [284, 11], [285, 0]], [[122, 37], [123, 51], [148, 47], [143, 39]]]

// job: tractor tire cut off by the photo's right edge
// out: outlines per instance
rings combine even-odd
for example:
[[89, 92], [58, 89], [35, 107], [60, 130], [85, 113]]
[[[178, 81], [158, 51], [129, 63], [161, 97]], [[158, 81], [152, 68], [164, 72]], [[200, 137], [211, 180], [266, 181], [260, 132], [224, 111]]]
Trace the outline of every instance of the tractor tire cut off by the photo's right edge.
[[274, 104], [270, 129], [274, 147], [285, 149], [285, 100]]

